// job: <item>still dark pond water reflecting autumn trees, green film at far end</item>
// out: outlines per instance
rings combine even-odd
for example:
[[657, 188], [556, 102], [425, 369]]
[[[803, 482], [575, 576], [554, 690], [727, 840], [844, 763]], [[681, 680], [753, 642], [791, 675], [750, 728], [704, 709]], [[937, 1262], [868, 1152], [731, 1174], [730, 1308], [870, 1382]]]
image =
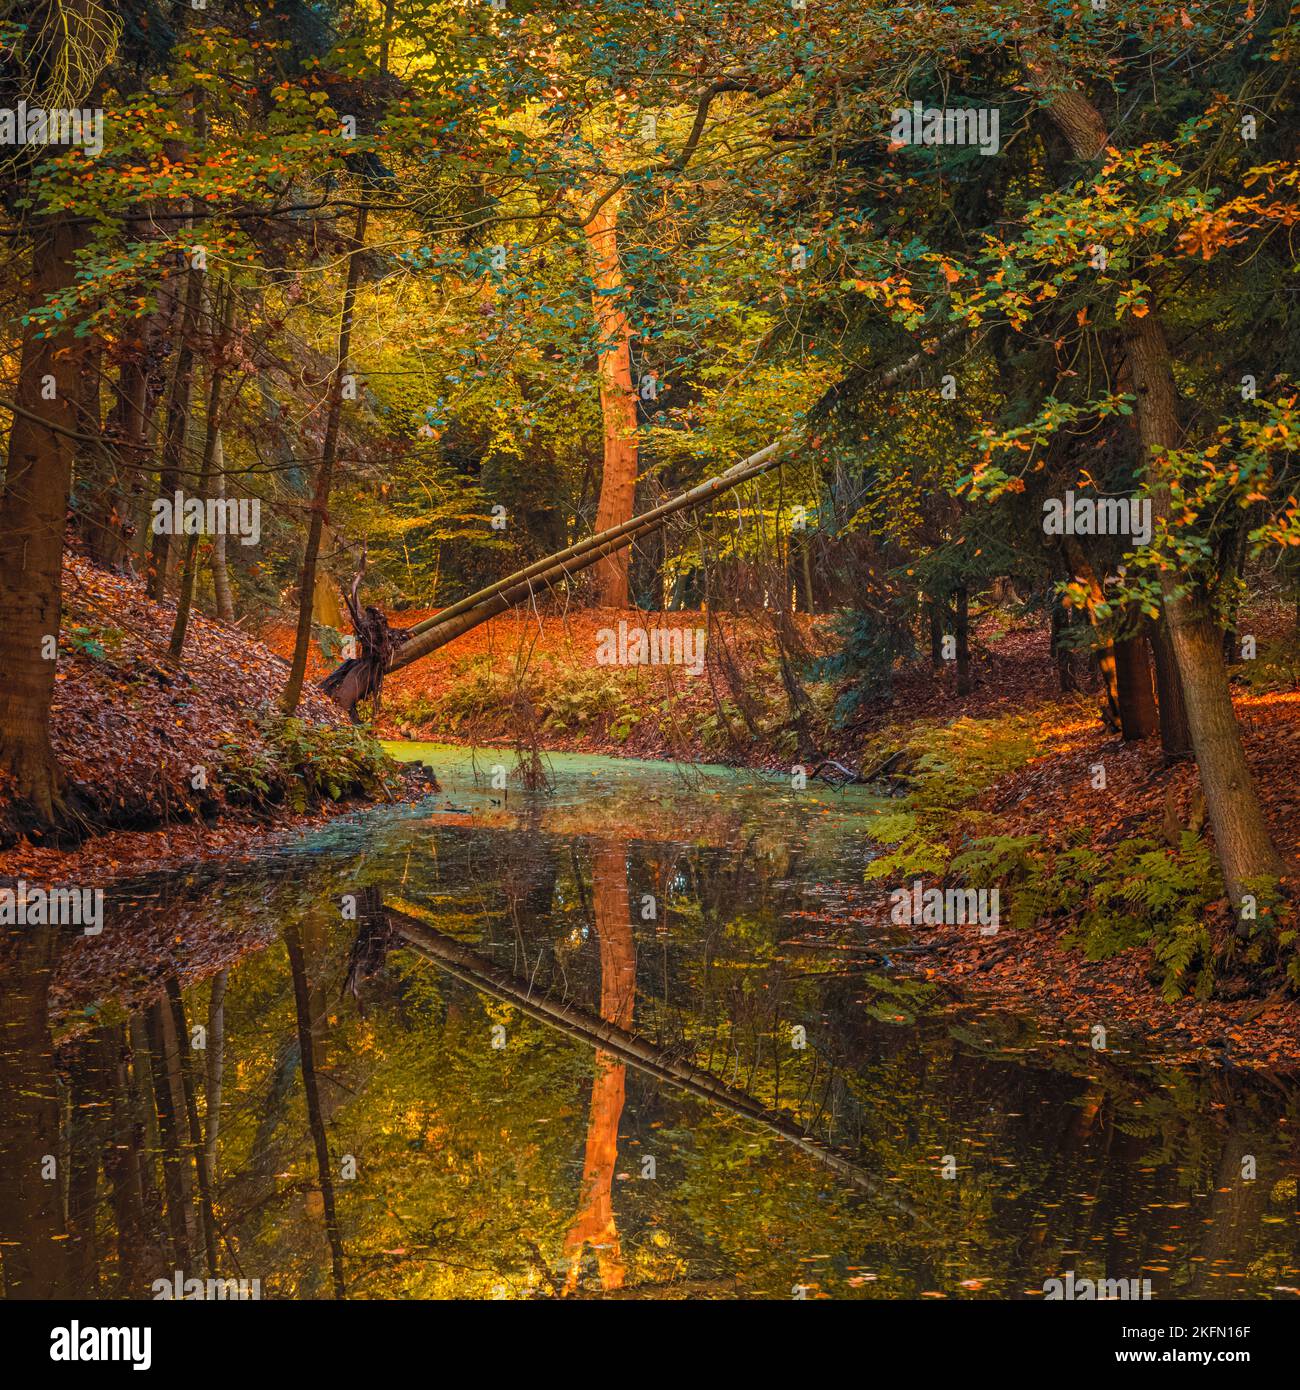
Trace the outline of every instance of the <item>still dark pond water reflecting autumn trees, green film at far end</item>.
[[8, 942], [10, 1297], [1297, 1297], [1300, 1087], [904, 970], [865, 791], [395, 751], [442, 790]]

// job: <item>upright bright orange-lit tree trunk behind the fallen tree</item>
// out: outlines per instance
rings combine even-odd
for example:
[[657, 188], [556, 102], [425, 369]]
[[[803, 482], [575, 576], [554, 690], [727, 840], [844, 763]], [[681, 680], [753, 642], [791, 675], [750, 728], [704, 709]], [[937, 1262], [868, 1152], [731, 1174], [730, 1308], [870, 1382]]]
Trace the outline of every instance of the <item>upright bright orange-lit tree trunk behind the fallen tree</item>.
[[[605, 423], [605, 468], [596, 531], [621, 525], [633, 516], [637, 493], [637, 392], [631, 377], [631, 325], [623, 310], [619, 264], [621, 195], [608, 197], [585, 225], [591, 274], [591, 307], [596, 320], [601, 416]], [[596, 566], [596, 602], [627, 607], [627, 550], [615, 550]]]

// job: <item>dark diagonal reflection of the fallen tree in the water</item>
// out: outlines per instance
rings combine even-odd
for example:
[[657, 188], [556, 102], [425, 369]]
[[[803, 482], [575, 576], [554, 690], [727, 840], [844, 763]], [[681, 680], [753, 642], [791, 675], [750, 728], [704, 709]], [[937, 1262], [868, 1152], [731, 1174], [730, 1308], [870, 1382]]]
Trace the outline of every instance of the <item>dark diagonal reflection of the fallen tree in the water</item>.
[[916, 1211], [900, 1197], [887, 1191], [886, 1184], [868, 1173], [861, 1165], [833, 1148], [820, 1144], [808, 1136], [786, 1113], [767, 1109], [762, 1101], [740, 1091], [726, 1081], [720, 1081], [709, 1072], [702, 1072], [681, 1058], [645, 1038], [628, 1033], [626, 1029], [602, 1019], [596, 1013], [578, 1008], [573, 1004], [563, 1004], [537, 995], [531, 991], [530, 983], [520, 976], [510, 974], [499, 969], [477, 951], [463, 945], [455, 937], [449, 937], [435, 927], [430, 927], [396, 908], [385, 908], [388, 924], [392, 931], [407, 945], [421, 955], [434, 960], [438, 966], [453, 974], [457, 980], [503, 999], [523, 1009], [530, 1017], [548, 1023], [569, 1037], [578, 1038], [590, 1047], [613, 1054], [628, 1066], [634, 1066], [660, 1081], [679, 1086], [692, 1095], [712, 1101], [733, 1115], [741, 1115], [754, 1120], [763, 1129], [780, 1136], [801, 1152], [815, 1158], [819, 1163], [831, 1169], [840, 1177], [852, 1183], [854, 1187], [883, 1198], [898, 1211], [916, 1216]]

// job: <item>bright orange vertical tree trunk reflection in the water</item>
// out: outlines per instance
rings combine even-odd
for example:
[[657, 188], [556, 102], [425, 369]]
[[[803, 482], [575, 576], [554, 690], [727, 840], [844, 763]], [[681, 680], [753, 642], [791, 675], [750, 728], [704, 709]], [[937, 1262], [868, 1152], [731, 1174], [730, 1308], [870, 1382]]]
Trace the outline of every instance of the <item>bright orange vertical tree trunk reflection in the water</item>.
[[[595, 851], [595, 927], [601, 944], [601, 1017], [627, 1031], [633, 1026], [637, 997], [637, 944], [627, 901], [627, 845], [606, 841]], [[587, 1123], [587, 1155], [583, 1161], [583, 1204], [564, 1237], [569, 1273], [564, 1289], [577, 1287], [583, 1250], [592, 1245], [601, 1284], [621, 1289], [623, 1252], [615, 1225], [613, 1182], [619, 1162], [619, 1120], [627, 1068], [610, 1052], [596, 1051], [591, 1084], [591, 1118]]]

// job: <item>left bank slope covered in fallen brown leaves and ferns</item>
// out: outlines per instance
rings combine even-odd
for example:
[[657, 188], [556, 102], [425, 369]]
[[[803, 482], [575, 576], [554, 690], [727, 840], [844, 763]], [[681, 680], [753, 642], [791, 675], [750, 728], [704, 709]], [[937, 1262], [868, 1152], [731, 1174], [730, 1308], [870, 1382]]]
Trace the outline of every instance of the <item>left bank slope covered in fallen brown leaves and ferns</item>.
[[375, 741], [320, 691], [304, 688], [296, 717], [281, 717], [288, 664], [238, 627], [192, 614], [172, 662], [174, 616], [138, 581], [68, 556], [50, 737], [72, 823], [33, 844], [0, 778], [0, 873], [63, 863], [86, 840], [96, 860], [138, 844], [185, 856], [400, 792]]

